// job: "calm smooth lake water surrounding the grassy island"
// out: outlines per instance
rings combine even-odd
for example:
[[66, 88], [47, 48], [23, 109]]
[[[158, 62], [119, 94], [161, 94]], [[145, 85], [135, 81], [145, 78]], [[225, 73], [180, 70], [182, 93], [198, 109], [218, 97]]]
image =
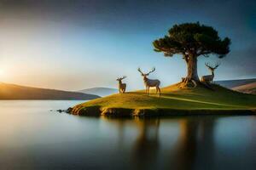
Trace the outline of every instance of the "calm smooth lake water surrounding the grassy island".
[[0, 101], [0, 169], [255, 169], [256, 116], [79, 117]]

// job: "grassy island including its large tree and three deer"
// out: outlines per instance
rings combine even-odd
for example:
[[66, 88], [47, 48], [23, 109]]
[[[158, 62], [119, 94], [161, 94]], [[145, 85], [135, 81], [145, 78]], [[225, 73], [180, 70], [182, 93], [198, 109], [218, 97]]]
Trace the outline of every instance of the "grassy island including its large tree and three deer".
[[[169, 116], [199, 114], [255, 114], [256, 95], [240, 94], [214, 85], [214, 71], [220, 63], [205, 63], [212, 74], [198, 77], [198, 58], [210, 55], [224, 58], [230, 53], [229, 37], [221, 38], [212, 26], [196, 23], [174, 25], [165, 37], [154, 40], [154, 51], [165, 57], [177, 55], [187, 65], [187, 76], [182, 82], [161, 89], [158, 94], [145, 94], [145, 90], [125, 94], [113, 94], [76, 105], [69, 110], [74, 115], [84, 116]], [[160, 80], [149, 79], [150, 73], [138, 68], [146, 87], [159, 88]], [[124, 79], [124, 78], [122, 78]], [[126, 85], [119, 79], [119, 89]], [[194, 84], [191, 87], [191, 84]], [[125, 91], [125, 90], [123, 90]], [[155, 91], [154, 91], [155, 93]]]

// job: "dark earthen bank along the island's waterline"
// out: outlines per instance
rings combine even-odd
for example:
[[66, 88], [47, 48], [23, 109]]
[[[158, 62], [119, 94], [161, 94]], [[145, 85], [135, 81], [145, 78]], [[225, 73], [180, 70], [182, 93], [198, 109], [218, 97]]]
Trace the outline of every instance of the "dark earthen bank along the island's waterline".
[[70, 108], [68, 113], [76, 116], [115, 116], [115, 117], [151, 117], [151, 116], [208, 116], [208, 115], [255, 115], [256, 109], [128, 109], [128, 108], [101, 108], [100, 106], [85, 107], [83, 109]]

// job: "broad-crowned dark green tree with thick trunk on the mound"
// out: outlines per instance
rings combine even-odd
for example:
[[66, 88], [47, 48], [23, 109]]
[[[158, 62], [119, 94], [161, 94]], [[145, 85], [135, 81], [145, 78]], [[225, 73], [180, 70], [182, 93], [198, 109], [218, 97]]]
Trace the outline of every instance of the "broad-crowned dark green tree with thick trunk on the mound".
[[230, 53], [230, 38], [223, 40], [218, 37], [218, 31], [212, 26], [196, 23], [184, 23], [174, 25], [168, 31], [168, 35], [154, 40], [154, 51], [162, 52], [166, 57], [180, 54], [187, 64], [187, 77], [183, 82], [199, 82], [197, 75], [197, 58], [216, 55], [223, 58]]

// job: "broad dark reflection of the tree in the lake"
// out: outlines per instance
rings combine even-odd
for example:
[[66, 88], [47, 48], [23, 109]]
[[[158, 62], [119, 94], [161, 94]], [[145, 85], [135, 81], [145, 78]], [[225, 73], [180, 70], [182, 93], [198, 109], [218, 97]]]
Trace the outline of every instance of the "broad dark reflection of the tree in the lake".
[[212, 117], [189, 118], [180, 121], [180, 136], [173, 147], [171, 163], [174, 169], [212, 169], [214, 161]]

